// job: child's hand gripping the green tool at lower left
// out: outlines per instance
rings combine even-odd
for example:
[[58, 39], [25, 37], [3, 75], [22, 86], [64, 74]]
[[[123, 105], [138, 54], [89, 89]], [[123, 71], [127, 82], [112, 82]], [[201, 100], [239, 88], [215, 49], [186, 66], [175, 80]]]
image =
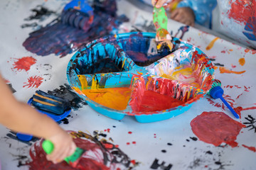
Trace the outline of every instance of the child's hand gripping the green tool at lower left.
[[47, 140], [53, 142], [54, 149], [51, 154], [46, 156], [46, 158], [54, 164], [62, 162], [65, 157], [68, 157], [75, 152], [75, 142], [73, 142], [72, 137], [64, 130]]

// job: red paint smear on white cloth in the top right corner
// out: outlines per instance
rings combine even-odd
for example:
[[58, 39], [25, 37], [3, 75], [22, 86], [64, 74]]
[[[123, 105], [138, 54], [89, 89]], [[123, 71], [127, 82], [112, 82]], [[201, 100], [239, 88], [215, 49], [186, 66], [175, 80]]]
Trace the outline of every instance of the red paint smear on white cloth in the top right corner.
[[236, 23], [247, 23], [250, 16], [255, 16], [256, 1], [230, 0], [231, 8], [228, 11], [228, 17], [233, 18]]

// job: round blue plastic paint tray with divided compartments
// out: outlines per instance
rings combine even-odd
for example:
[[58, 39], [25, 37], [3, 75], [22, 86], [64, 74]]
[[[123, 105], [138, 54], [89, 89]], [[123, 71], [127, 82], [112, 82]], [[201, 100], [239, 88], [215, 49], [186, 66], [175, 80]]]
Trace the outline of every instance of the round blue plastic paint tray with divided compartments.
[[[95, 111], [116, 120], [122, 120], [124, 115], [133, 115], [140, 123], [150, 123], [173, 118], [188, 111], [195, 101], [207, 94], [213, 84], [213, 64], [197, 47], [178, 38], [173, 39], [174, 51], [170, 55], [159, 54], [156, 51], [154, 38], [155, 33], [123, 33], [87, 43], [68, 63], [67, 77], [71, 88]], [[111, 63], [115, 64], [119, 71], [101, 72], [102, 68], [108, 67]], [[169, 78], [169, 75], [175, 71], [174, 68], [190, 64], [198, 65], [200, 68], [198, 72], [193, 72], [201, 79], [196, 86], [186, 79], [183, 81]], [[167, 76], [163, 77], [164, 74], [159, 74], [159, 70]], [[166, 81], [172, 85], [166, 86]], [[127, 107], [117, 110], [103, 106], [102, 103], [97, 103], [83, 94], [83, 90], [95, 88], [95, 82], [96, 88], [100, 89], [130, 87], [132, 95]], [[151, 84], [150, 88], [149, 84]], [[144, 87], [138, 89], [139, 86]], [[159, 91], [159, 87], [162, 91]], [[135, 111], [131, 101], [138, 100], [139, 103], [138, 91], [154, 91], [169, 95], [184, 101], [185, 104], [160, 111]], [[171, 94], [170, 91], [173, 93]], [[183, 94], [180, 94], [180, 91]]]

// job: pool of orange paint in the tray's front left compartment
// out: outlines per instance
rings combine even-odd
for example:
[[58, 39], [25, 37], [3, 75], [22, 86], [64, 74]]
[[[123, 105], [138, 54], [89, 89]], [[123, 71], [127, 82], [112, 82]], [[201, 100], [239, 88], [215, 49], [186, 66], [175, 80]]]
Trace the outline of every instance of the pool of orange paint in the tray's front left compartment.
[[131, 89], [129, 87], [83, 89], [82, 93], [102, 106], [122, 111], [127, 108]]

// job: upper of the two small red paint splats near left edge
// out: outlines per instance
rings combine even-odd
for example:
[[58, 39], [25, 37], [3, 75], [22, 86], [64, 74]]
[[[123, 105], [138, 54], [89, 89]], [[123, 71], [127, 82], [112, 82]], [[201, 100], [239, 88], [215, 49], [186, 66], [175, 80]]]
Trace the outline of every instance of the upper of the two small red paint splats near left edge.
[[28, 71], [31, 65], [35, 63], [36, 59], [33, 57], [22, 57], [21, 59], [18, 59], [17, 62], [14, 62], [14, 69], [17, 69], [18, 71], [25, 69], [25, 71]]

